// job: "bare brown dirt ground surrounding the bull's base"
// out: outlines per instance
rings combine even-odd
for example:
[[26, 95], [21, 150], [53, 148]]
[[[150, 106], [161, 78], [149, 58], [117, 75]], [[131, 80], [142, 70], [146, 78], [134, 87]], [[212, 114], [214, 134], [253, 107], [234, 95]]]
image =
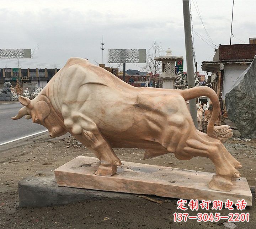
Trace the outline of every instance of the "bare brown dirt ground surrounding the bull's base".
[[[94, 157], [86, 147], [73, 137], [63, 140], [41, 138], [34, 142], [1, 152], [0, 169], [0, 228], [219, 228], [214, 223], [174, 223], [173, 213], [177, 210], [176, 199], [162, 205], [147, 200], [115, 201], [91, 200], [68, 206], [48, 208], [18, 208], [18, 181], [28, 176], [47, 176], [71, 159], [83, 155]], [[231, 139], [224, 143], [228, 151], [242, 165], [240, 173], [249, 185], [255, 185], [256, 140]], [[67, 148], [67, 146], [69, 146]], [[174, 154], [143, 160], [144, 150], [133, 148], [114, 149], [121, 160], [174, 168], [215, 172], [213, 163], [202, 157], [182, 161]], [[84, 165], [89, 166], [88, 164]], [[169, 181], [174, 182], [174, 181]], [[255, 200], [255, 199], [254, 199]], [[237, 212], [237, 211], [236, 211]], [[249, 223], [235, 223], [239, 228], [255, 228], [255, 202], [247, 207]], [[193, 214], [193, 212], [189, 212]], [[222, 214], [227, 213], [225, 210]], [[228, 214], [228, 213], [227, 213]], [[104, 220], [105, 219], [105, 220]], [[246, 227], [245, 227], [246, 225]]]

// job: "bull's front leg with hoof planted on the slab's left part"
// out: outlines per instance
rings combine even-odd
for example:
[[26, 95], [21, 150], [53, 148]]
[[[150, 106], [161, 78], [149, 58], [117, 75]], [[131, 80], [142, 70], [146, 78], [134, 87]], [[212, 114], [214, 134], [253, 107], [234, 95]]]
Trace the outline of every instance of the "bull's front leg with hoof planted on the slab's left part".
[[121, 160], [116, 156], [110, 143], [105, 139], [94, 121], [83, 114], [72, 116], [64, 120], [64, 124], [71, 129], [71, 134], [83, 145], [89, 147], [100, 159], [100, 166], [95, 172], [100, 176], [112, 176], [117, 171], [117, 166], [121, 165]]

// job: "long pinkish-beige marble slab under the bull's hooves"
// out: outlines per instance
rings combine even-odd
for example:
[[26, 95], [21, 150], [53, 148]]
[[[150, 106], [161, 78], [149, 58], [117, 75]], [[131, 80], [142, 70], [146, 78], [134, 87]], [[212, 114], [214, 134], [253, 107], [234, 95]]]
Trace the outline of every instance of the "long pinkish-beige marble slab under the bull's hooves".
[[215, 191], [207, 187], [215, 175], [201, 171], [177, 169], [157, 165], [122, 162], [117, 174], [97, 176], [100, 161], [94, 157], [78, 156], [54, 170], [58, 186], [103, 191], [148, 194], [163, 197], [222, 200], [236, 202], [244, 199], [252, 205], [252, 194], [246, 178], [233, 182], [231, 191]]

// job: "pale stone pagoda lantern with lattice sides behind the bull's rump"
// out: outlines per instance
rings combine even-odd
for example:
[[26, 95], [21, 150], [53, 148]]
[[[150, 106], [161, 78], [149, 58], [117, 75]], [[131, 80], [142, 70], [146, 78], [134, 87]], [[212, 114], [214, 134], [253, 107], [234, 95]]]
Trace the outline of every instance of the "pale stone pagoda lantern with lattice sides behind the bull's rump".
[[163, 81], [162, 88], [174, 89], [175, 86], [175, 62], [176, 60], [183, 60], [183, 56], [172, 56], [171, 49], [166, 50], [166, 56], [155, 57], [155, 60], [162, 61], [162, 75], [160, 79]]

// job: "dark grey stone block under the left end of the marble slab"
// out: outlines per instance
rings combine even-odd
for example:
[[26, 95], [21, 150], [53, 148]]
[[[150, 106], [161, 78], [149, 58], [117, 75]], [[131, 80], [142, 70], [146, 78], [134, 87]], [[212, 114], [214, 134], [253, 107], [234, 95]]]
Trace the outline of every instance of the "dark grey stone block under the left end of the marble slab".
[[54, 175], [41, 178], [24, 178], [18, 183], [18, 191], [20, 207], [67, 205], [92, 198], [141, 199], [128, 193], [59, 187]]

